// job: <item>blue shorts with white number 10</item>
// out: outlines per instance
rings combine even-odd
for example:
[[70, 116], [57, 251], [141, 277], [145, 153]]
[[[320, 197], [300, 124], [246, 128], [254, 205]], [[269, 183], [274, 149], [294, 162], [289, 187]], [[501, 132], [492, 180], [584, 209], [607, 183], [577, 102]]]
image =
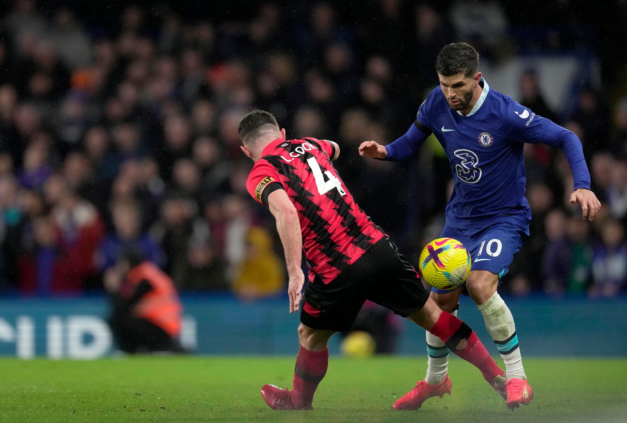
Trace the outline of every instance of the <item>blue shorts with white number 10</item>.
[[[460, 241], [472, 259], [471, 270], [487, 270], [498, 274], [498, 283], [507, 273], [509, 265], [522, 244], [529, 238], [529, 228], [511, 222], [495, 223], [484, 229], [457, 229], [445, 226], [440, 238], [453, 238]], [[463, 286], [463, 285], [462, 285]], [[450, 290], [431, 288], [438, 294]]]

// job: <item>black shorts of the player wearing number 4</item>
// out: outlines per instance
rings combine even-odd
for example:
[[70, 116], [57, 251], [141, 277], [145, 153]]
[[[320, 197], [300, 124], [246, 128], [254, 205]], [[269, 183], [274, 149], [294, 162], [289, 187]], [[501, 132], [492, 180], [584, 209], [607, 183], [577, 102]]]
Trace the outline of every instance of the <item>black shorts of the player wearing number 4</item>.
[[307, 284], [300, 321], [314, 329], [345, 332], [366, 300], [407, 317], [428, 298], [413, 266], [389, 238], [382, 238], [328, 284], [318, 277]]

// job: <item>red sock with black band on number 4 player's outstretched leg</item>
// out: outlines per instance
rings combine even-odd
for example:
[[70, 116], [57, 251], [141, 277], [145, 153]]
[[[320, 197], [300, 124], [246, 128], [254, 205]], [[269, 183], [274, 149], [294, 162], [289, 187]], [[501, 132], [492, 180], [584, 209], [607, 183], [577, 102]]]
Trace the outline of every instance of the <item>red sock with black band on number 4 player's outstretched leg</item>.
[[492, 383], [495, 377], [503, 375], [503, 370], [492, 360], [470, 326], [450, 313], [442, 311], [430, 332], [440, 338], [456, 356], [481, 370], [487, 382]]

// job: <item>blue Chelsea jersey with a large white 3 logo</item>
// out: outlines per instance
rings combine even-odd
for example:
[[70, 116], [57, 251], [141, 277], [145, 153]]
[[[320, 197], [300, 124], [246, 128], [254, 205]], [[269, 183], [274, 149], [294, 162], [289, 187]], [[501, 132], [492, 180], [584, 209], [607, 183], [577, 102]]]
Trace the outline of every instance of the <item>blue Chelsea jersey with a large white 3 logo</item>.
[[[416, 127], [433, 132], [450, 161], [455, 189], [446, 206], [446, 224], [485, 227], [509, 221], [527, 228], [531, 212], [525, 198], [524, 143], [562, 147], [573, 169], [575, 188], [589, 188], [581, 142], [511, 97], [490, 90], [483, 78], [480, 84], [483, 91], [468, 115], [451, 109], [438, 86], [416, 117]], [[401, 158], [398, 155], [396, 159]]]

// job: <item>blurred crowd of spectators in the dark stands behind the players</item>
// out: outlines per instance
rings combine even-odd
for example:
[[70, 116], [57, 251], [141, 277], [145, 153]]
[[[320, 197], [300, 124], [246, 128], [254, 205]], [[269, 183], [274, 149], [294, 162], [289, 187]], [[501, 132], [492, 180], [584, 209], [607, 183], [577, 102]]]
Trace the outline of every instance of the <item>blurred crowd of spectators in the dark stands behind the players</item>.
[[[103, 273], [127, 248], [179, 290], [230, 290], [246, 300], [282, 292], [273, 219], [245, 188], [252, 162], [237, 125], [252, 108], [274, 113], [289, 138], [337, 140], [345, 184], [416, 256], [443, 226], [447, 160], [436, 142], [399, 163], [364, 160], [357, 145], [406, 132], [437, 83], [435, 56], [445, 43], [469, 40], [482, 60], [514, 54], [515, 42], [502, 42], [512, 17], [495, 1], [469, 14], [463, 2], [443, 9], [379, 0], [359, 8], [359, 19], [351, 17], [357, 6], [342, 4], [268, 2], [218, 17], [125, 6], [104, 26], [71, 8], [5, 6], [2, 292], [102, 290]], [[478, 26], [469, 21], [477, 13], [488, 17]], [[557, 53], [579, 42], [555, 36], [536, 42]], [[613, 65], [602, 63], [603, 75]], [[627, 97], [610, 101], [583, 86], [564, 115], [547, 105], [538, 77], [524, 73], [516, 100], [581, 138], [604, 207], [583, 221], [568, 202], [564, 156], [527, 145], [531, 237], [504, 288], [616, 295], [627, 281]]]

